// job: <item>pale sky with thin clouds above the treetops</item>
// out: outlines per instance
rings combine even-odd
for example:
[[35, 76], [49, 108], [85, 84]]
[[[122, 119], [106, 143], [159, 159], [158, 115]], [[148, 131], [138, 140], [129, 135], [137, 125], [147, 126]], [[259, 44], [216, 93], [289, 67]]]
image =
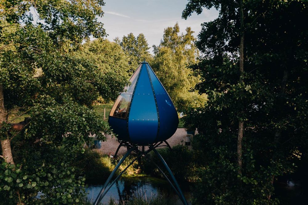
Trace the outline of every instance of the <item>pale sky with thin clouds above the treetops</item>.
[[158, 45], [163, 37], [164, 29], [179, 23], [180, 32], [190, 26], [197, 37], [201, 23], [212, 21], [218, 16], [215, 9], [203, 10], [200, 15], [194, 13], [187, 20], [182, 19], [187, 0], [105, 0], [104, 16], [98, 20], [103, 22], [107, 39], [122, 39], [124, 35], [143, 33], [148, 40], [150, 52], [152, 45]]

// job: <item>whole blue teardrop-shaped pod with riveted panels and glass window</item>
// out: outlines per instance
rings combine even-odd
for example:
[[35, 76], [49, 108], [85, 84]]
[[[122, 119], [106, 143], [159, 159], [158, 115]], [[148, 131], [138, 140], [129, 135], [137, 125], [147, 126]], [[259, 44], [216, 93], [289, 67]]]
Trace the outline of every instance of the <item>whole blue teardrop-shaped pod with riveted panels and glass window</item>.
[[176, 109], [148, 62], [142, 62], [109, 114], [119, 140], [148, 145], [169, 139], [176, 131]]

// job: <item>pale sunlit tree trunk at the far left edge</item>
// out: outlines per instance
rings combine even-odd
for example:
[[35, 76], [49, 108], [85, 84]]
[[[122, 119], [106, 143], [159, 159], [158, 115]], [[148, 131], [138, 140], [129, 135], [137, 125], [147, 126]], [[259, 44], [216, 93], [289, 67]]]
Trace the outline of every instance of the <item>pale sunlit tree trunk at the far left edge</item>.
[[[3, 86], [0, 85], [0, 126], [3, 121], [6, 121], [6, 110], [4, 108]], [[8, 136], [6, 136], [6, 138], [1, 139], [0, 141], [2, 148], [2, 158], [4, 158], [7, 163], [14, 164], [10, 139]]]

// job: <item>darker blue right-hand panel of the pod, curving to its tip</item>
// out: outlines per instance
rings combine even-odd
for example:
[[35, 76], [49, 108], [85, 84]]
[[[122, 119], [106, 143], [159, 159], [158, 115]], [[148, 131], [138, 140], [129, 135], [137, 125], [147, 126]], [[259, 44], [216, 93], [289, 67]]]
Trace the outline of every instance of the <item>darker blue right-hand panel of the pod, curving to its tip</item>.
[[150, 65], [146, 65], [154, 88], [160, 117], [159, 133], [156, 141], [167, 140], [176, 132], [177, 126], [179, 124], [179, 118], [167, 91], [164, 89], [164, 86], [156, 77]]

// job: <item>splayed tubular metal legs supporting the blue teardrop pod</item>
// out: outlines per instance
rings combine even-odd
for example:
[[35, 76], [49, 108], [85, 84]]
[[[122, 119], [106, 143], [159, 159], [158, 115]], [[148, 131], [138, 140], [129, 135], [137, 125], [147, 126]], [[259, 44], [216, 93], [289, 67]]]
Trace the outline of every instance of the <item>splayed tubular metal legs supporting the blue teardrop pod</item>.
[[[179, 184], [177, 183], [174, 175], [172, 174], [172, 171], [170, 170], [170, 168], [168, 167], [167, 163], [165, 162], [165, 160], [163, 159], [163, 157], [159, 154], [159, 152], [157, 152], [156, 148], [157, 147], [160, 147], [164, 141], [161, 141], [161, 142], [158, 142], [158, 143], [155, 143], [155, 144], [151, 144], [151, 145], [147, 145], [148, 146], [148, 150], [145, 151], [144, 147], [145, 146], [142, 146], [141, 150], [138, 149], [138, 146], [137, 145], [133, 145], [131, 143], [127, 143], [127, 142], [124, 142], [124, 141], [119, 141], [120, 142], [120, 145], [119, 147], [117, 148], [117, 151], [115, 152], [115, 156], [117, 155], [119, 149], [121, 146], [124, 146], [124, 147], [127, 147], [128, 148], [128, 151], [126, 152], [126, 154], [123, 156], [123, 158], [119, 161], [119, 163], [115, 166], [114, 170], [111, 172], [111, 174], [109, 175], [107, 181], [105, 182], [103, 188], [101, 189], [101, 191], [99, 192], [99, 195], [97, 196], [97, 198], [95, 199], [95, 202], [93, 203], [93, 205], [97, 205], [102, 199], [103, 197], [107, 194], [107, 192], [109, 191], [109, 189], [112, 187], [112, 185], [121, 177], [121, 175], [138, 159], [140, 159], [142, 156], [147, 156], [147, 154], [151, 151], [153, 151], [157, 156], [158, 158], [161, 160], [161, 162], [164, 164], [164, 167], [167, 169], [172, 181], [170, 179], [168, 179], [167, 175], [161, 170], [161, 168], [152, 160], [152, 163], [158, 168], [158, 170], [162, 173], [162, 175], [164, 175], [164, 177], [167, 179], [167, 181], [170, 183], [171, 187], [174, 189], [174, 191], [176, 192], [176, 194], [180, 197], [182, 203], [184, 205], [188, 205], [184, 195], [183, 195], [183, 192], [179, 186]], [[165, 142], [167, 145], [169, 145], [167, 142]], [[163, 145], [163, 146], [166, 146], [166, 147], [170, 147], [167, 146], [167, 145]], [[121, 171], [121, 173], [113, 180], [113, 182], [108, 186], [108, 184], [110, 183], [112, 177], [114, 176], [115, 172], [119, 169], [120, 165], [124, 162], [124, 160], [128, 157], [128, 155], [131, 153], [131, 152], [135, 152], [138, 154], [138, 156], [132, 160], [132, 162], [130, 164], [128, 164], [128, 166], [123, 170]]]

